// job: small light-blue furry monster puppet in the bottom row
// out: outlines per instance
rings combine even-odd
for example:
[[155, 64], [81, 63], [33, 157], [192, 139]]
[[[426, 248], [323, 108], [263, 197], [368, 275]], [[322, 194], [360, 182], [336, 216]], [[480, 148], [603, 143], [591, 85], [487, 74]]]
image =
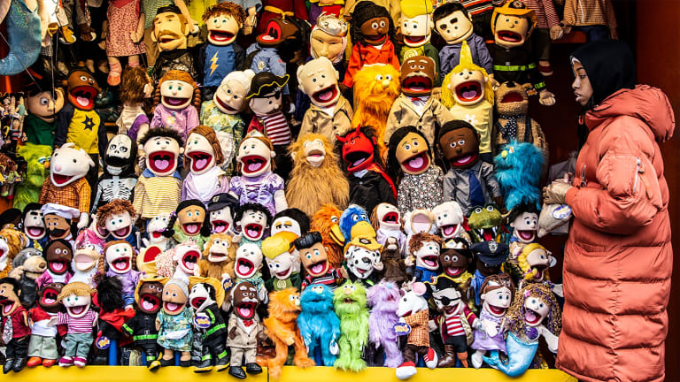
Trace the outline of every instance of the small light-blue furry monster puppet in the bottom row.
[[316, 364], [332, 366], [340, 339], [340, 318], [333, 311], [333, 291], [320, 284], [310, 286], [300, 294], [300, 307], [298, 327], [307, 353], [314, 356], [316, 348], [321, 348], [321, 360], [317, 359]]

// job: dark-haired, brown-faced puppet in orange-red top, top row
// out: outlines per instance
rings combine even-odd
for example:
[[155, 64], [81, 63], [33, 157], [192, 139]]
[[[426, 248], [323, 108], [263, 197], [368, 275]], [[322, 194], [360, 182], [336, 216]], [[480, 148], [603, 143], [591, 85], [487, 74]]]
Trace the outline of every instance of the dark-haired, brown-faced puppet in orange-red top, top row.
[[344, 74], [344, 86], [354, 86], [354, 76], [364, 65], [386, 64], [399, 70], [399, 60], [392, 42], [394, 22], [385, 8], [372, 1], [356, 4], [350, 21], [350, 35], [354, 46]]

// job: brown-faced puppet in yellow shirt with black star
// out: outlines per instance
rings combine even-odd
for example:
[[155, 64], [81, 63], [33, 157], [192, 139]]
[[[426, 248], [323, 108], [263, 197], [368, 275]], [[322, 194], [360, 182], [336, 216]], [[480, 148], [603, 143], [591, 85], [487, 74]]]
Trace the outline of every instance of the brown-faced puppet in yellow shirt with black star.
[[[104, 120], [95, 111], [95, 99], [102, 89], [97, 85], [94, 75], [85, 69], [69, 73], [68, 79], [63, 84], [66, 87], [68, 103], [57, 114], [54, 147], [67, 147], [66, 143], [73, 143], [91, 157], [93, 169], [88, 169], [89, 172], [86, 173], [89, 187], [92, 188], [97, 181], [99, 157], [104, 157], [106, 143], [109, 141]], [[52, 165], [55, 164], [55, 159], [53, 154]], [[86, 212], [89, 212], [89, 208]], [[81, 227], [84, 226], [87, 226], [87, 222]]]

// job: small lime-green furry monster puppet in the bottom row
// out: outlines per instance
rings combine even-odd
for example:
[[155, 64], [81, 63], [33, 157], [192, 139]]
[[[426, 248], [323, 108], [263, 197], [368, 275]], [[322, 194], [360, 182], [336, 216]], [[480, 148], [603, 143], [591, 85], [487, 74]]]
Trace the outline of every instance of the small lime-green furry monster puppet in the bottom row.
[[340, 318], [342, 335], [338, 342], [340, 355], [333, 366], [342, 371], [362, 371], [366, 369], [366, 361], [361, 355], [368, 343], [366, 288], [360, 282], [347, 281], [334, 294], [333, 305]]

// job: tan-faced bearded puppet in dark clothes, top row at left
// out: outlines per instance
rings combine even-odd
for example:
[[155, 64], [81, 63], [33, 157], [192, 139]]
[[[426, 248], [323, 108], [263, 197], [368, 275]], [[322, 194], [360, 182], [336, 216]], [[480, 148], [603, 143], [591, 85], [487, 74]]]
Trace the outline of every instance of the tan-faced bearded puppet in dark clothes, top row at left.
[[201, 79], [198, 71], [198, 56], [194, 50], [187, 49], [187, 36], [191, 25], [176, 5], [158, 8], [153, 18], [151, 41], [158, 42], [158, 58], [153, 65], [151, 78], [160, 80], [171, 70], [189, 73], [195, 80]]

